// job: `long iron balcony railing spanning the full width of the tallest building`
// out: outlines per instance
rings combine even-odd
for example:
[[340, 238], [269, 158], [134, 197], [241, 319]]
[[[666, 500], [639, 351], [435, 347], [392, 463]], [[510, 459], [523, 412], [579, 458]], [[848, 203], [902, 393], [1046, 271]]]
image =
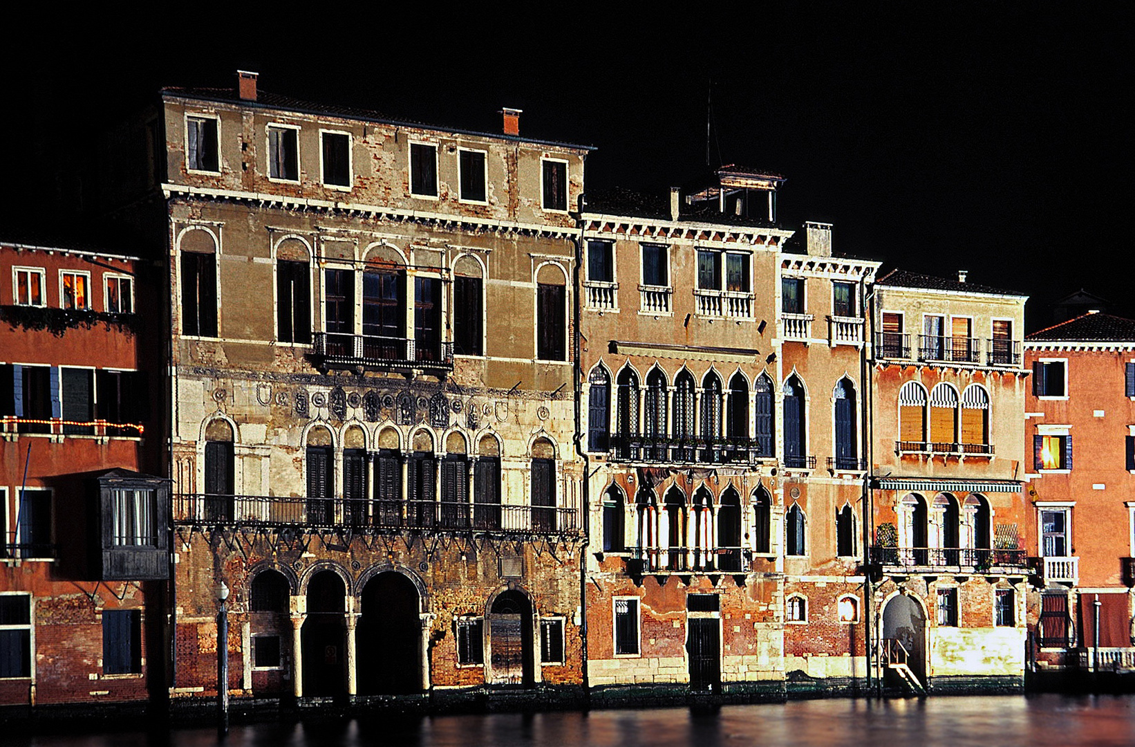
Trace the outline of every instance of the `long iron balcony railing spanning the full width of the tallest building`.
[[174, 498], [174, 523], [548, 534], [580, 530], [578, 511], [566, 506], [185, 493]]

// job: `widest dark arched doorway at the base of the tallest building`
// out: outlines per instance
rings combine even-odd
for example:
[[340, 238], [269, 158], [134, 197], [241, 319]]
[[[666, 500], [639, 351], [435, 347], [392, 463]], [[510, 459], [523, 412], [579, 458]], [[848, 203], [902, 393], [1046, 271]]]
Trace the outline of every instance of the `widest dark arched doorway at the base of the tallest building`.
[[361, 695], [421, 691], [420, 611], [418, 588], [402, 573], [379, 573], [363, 587], [355, 633]]

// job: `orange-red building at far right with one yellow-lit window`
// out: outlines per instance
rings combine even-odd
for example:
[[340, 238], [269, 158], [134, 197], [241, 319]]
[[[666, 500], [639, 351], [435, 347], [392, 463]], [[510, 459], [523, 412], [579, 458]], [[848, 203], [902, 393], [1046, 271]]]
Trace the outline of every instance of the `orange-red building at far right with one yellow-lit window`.
[[[1135, 320], [1085, 313], [1025, 341], [1041, 670], [1135, 669]], [[1096, 605], [1099, 601], [1099, 605]]]

